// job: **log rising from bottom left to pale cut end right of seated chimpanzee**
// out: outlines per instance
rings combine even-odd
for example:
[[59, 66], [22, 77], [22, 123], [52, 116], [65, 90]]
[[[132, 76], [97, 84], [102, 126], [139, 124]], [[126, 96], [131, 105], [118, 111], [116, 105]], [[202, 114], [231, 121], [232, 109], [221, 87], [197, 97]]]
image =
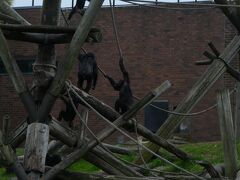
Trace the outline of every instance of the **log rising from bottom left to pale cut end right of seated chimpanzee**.
[[[134, 104], [126, 113], [121, 115], [119, 118], [117, 118], [113, 124], [116, 127], [121, 127], [123, 124], [125, 124], [126, 121], [131, 119], [140, 109], [144, 108], [146, 105], [150, 104], [153, 100], [158, 98], [164, 91], [166, 91], [170, 87], [170, 82], [165, 81], [162, 85], [148, 93], [141, 101]], [[109, 135], [111, 135], [114, 131], [116, 131], [116, 128], [114, 126], [106, 127], [104, 128], [100, 133], [98, 133], [97, 138], [91, 140], [88, 142], [88, 146], [83, 148], [79, 148], [75, 150], [73, 153], [69, 154], [62, 162], [54, 166], [50, 171], [48, 171], [45, 175], [45, 179], [51, 179], [53, 178], [59, 171], [65, 169], [69, 165], [71, 165], [73, 162], [84, 156], [84, 154], [89, 151], [90, 149], [94, 148], [98, 141], [103, 141], [105, 138], [107, 138]]]

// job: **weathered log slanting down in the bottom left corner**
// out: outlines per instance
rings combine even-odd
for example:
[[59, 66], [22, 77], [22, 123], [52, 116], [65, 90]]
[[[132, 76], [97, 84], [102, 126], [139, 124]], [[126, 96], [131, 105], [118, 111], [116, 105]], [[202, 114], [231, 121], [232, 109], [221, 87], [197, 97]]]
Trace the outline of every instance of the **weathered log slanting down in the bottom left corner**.
[[2, 132], [0, 131], [0, 164], [8, 169], [12, 169], [19, 180], [26, 180], [27, 175], [18, 162], [17, 157], [9, 145], [3, 143]]

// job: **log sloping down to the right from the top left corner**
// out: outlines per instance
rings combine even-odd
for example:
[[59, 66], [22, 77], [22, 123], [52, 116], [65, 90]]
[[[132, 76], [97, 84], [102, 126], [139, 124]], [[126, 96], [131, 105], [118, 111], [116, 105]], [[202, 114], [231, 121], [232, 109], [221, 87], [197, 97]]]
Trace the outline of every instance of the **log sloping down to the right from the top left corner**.
[[0, 12], [15, 18], [17, 21], [20, 21], [21, 24], [30, 25], [30, 23], [19, 15], [6, 1], [0, 1]]

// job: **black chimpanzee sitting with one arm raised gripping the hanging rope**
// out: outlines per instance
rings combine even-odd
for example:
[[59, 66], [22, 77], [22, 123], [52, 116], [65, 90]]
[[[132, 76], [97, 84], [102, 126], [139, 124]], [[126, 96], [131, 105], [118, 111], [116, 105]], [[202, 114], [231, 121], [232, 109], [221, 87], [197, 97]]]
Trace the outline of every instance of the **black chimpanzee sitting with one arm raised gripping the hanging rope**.
[[133, 104], [133, 95], [130, 87], [129, 75], [124, 67], [122, 58], [120, 58], [119, 60], [119, 66], [123, 75], [123, 80], [119, 80], [118, 82], [115, 82], [113, 78], [111, 78], [110, 76], [105, 75], [105, 77], [109, 80], [112, 87], [116, 91], [119, 91], [119, 98], [115, 102], [115, 110], [120, 114], [123, 114]]

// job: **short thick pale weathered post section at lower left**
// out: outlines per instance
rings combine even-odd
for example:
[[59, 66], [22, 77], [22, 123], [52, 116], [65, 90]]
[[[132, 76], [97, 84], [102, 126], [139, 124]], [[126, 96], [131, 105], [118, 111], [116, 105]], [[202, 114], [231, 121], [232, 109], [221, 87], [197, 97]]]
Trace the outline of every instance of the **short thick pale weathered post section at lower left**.
[[48, 149], [49, 127], [42, 123], [28, 125], [24, 149], [24, 168], [27, 172], [44, 172]]

